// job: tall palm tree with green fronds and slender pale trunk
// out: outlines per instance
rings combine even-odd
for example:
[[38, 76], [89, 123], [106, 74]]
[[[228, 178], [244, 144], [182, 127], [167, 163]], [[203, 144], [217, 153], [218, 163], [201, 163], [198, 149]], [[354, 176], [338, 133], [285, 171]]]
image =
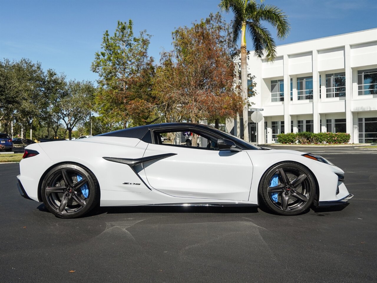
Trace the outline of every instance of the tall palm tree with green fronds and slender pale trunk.
[[[261, 1], [262, 2], [262, 1]], [[241, 32], [241, 89], [242, 98], [247, 100], [247, 50], [246, 30], [253, 40], [255, 55], [273, 61], [276, 57], [276, 45], [270, 31], [261, 22], [270, 23], [277, 31], [279, 39], [287, 37], [290, 24], [287, 15], [274, 5], [257, 4], [255, 0], [221, 0], [219, 7], [226, 12], [231, 9], [234, 14], [232, 20], [233, 40], [237, 42]], [[249, 141], [248, 103], [242, 111], [244, 118], [244, 140]]]

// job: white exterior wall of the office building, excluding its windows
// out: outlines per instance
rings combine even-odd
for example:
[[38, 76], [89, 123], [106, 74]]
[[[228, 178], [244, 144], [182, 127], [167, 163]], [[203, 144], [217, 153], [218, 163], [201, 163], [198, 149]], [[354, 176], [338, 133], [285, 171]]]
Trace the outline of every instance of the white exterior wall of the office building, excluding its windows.
[[[280, 45], [277, 46], [277, 57], [273, 63], [255, 57], [253, 51], [249, 54], [248, 72], [256, 76], [257, 84], [257, 95], [250, 101], [255, 103], [252, 107], [264, 108], [264, 119], [259, 129], [264, 129], [264, 122], [270, 128], [271, 121], [285, 121], [288, 124], [292, 120], [297, 125], [297, 120], [303, 120], [299, 117], [305, 116], [308, 117], [305, 120], [319, 123], [319, 119], [323, 122], [326, 117], [340, 115], [347, 119], [351, 141], [357, 142], [357, 117], [365, 113], [377, 117], [377, 95], [358, 95], [357, 86], [357, 71], [377, 68], [377, 29]], [[346, 73], [346, 97], [327, 98], [325, 75], [337, 72]], [[314, 99], [297, 100], [297, 77], [306, 76], [313, 76]], [[293, 101], [290, 101], [290, 78], [293, 79]], [[271, 102], [271, 80], [278, 79], [284, 79], [284, 102]], [[319, 125], [314, 128], [321, 130]], [[268, 138], [271, 140], [271, 134], [268, 134]], [[263, 143], [264, 139], [261, 131], [258, 143]]]

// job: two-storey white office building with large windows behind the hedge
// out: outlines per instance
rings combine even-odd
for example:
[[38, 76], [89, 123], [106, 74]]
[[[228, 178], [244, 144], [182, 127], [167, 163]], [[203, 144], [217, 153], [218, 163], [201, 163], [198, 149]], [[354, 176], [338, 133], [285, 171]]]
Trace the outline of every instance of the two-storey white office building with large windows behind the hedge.
[[252, 107], [263, 109], [259, 123], [249, 111], [251, 142], [303, 131], [377, 142], [377, 29], [280, 45], [272, 63], [250, 51], [248, 72], [256, 82]]

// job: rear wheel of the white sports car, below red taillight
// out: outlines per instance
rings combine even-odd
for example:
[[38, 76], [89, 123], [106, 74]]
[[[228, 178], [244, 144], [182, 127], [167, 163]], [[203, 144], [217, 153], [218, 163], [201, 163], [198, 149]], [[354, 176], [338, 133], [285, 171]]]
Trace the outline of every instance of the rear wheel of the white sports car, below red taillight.
[[97, 205], [100, 189], [97, 179], [87, 168], [67, 163], [46, 174], [41, 196], [46, 208], [57, 217], [77, 218]]

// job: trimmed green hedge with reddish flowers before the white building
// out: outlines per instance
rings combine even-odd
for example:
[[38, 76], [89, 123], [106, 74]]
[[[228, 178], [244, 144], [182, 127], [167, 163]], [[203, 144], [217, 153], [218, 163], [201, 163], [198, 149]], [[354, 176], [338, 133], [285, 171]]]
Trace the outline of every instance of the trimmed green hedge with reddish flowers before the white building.
[[350, 135], [346, 133], [312, 133], [312, 132], [299, 132], [287, 133], [277, 135], [278, 143], [301, 143], [301, 144], [323, 144], [323, 143], [348, 143]]

